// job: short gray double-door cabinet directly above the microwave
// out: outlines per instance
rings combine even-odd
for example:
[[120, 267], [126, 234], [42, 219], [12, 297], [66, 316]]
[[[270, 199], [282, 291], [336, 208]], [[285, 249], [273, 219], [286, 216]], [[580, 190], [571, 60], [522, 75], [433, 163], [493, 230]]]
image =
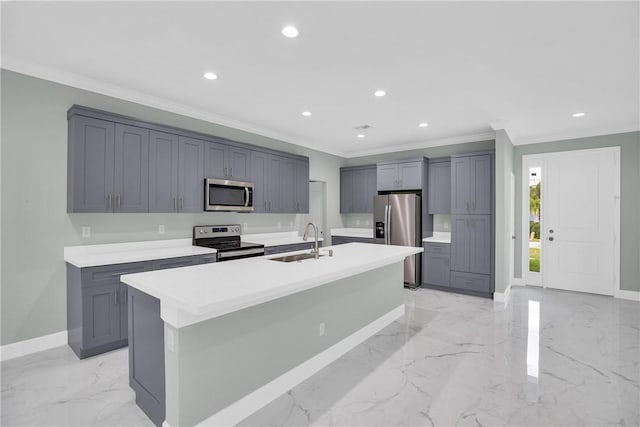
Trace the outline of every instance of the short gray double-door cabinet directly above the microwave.
[[251, 178], [251, 152], [233, 145], [207, 142], [204, 168], [206, 178], [249, 181]]

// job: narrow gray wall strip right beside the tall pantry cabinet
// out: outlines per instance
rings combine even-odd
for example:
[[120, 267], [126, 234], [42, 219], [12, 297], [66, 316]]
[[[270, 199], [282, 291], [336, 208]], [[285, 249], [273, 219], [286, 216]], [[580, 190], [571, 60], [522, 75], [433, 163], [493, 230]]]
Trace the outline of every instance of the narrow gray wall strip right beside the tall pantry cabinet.
[[511, 214], [511, 174], [513, 173], [513, 144], [504, 130], [496, 132], [495, 183], [495, 291], [504, 292], [511, 282], [509, 274], [510, 250], [514, 242], [509, 230]]

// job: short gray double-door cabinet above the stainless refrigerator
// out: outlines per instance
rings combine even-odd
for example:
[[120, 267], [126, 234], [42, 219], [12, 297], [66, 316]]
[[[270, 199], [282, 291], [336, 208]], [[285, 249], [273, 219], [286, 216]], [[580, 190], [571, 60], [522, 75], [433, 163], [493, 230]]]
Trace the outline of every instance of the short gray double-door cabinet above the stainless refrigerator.
[[424, 163], [422, 159], [379, 162], [378, 191], [422, 189]]

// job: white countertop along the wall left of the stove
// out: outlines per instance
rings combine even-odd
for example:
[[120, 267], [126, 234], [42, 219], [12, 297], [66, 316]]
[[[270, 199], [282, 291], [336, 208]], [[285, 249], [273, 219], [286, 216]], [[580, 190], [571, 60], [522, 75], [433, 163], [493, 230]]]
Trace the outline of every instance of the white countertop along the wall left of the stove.
[[83, 268], [214, 253], [216, 253], [215, 249], [193, 246], [191, 239], [171, 239], [67, 246], [64, 248], [64, 260]]

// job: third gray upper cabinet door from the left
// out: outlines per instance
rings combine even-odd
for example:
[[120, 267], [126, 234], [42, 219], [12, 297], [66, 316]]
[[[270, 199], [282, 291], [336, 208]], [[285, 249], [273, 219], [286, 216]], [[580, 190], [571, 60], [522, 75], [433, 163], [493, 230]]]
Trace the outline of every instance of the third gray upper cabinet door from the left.
[[178, 137], [151, 131], [149, 212], [178, 211]]

